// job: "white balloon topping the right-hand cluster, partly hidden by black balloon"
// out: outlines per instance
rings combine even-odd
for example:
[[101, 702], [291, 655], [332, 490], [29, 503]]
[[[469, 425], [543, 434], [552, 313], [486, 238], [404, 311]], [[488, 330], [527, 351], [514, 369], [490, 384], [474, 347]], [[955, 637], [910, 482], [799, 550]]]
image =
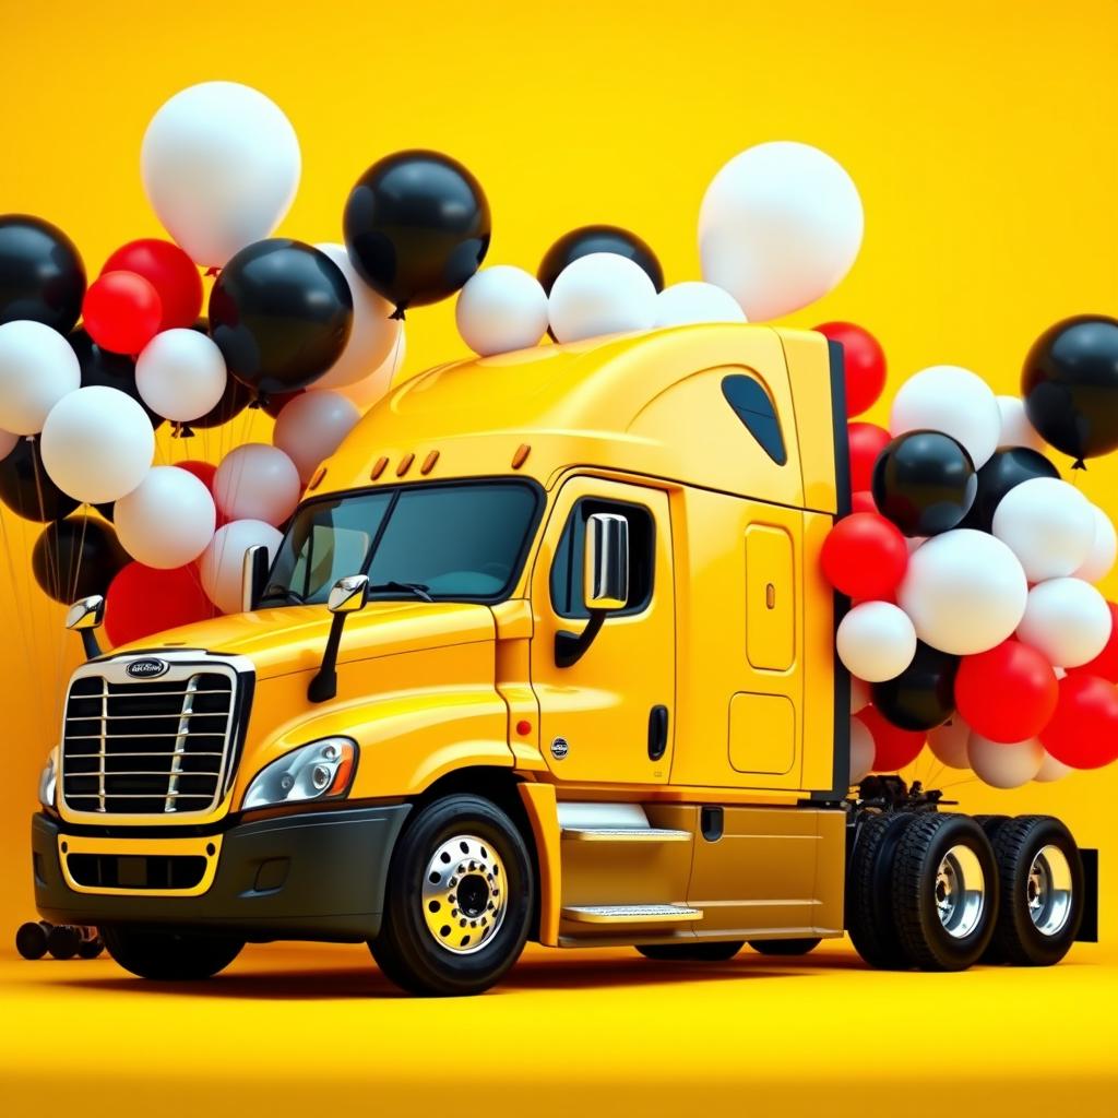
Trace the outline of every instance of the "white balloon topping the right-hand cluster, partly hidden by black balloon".
[[935, 364], [909, 377], [893, 397], [889, 430], [941, 430], [961, 443], [977, 470], [997, 449], [1002, 413], [991, 387], [969, 369]]

